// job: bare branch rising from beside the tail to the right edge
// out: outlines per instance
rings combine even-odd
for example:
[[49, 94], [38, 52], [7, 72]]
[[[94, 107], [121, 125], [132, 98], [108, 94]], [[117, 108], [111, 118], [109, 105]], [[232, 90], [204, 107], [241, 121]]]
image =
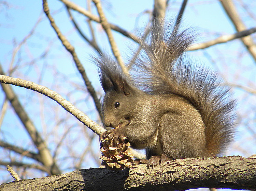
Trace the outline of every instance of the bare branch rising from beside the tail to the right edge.
[[252, 33], [255, 33], [255, 32], [256, 32], [256, 27], [245, 30], [245, 31], [241, 31], [241, 32], [238, 32], [238, 33], [235, 33], [235, 34], [231, 34], [231, 35], [223, 35], [221, 37], [218, 37], [214, 40], [210, 40], [208, 42], [192, 45], [191, 47], [188, 48], [188, 51], [208, 48], [208, 47], [213, 46], [213, 45], [225, 43], [225, 42], [237, 39], [237, 38], [248, 36], [248, 35], [250, 35]]

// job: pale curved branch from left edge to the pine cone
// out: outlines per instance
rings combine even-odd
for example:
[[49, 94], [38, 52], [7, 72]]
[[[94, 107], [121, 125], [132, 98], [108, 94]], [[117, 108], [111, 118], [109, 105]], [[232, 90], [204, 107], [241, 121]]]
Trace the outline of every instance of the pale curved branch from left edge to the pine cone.
[[100, 135], [101, 133], [106, 131], [104, 128], [100, 127], [97, 123], [95, 123], [94, 121], [91, 121], [82, 111], [77, 109], [73, 104], [71, 104], [69, 101], [65, 100], [63, 97], [61, 97], [60, 94], [58, 94], [57, 92], [55, 92], [45, 86], [41, 86], [41, 85], [35, 84], [30, 81], [26, 81], [26, 80], [22, 80], [19, 78], [6, 76], [6, 75], [0, 75], [0, 82], [4, 83], [4, 84], [12, 84], [15, 86], [24, 87], [27, 89], [34, 90], [38, 93], [44, 94], [48, 98], [51, 98], [52, 100], [56, 101], [66, 111], [68, 111], [76, 119], [78, 119], [83, 124], [85, 124], [87, 127], [89, 127], [97, 135]]

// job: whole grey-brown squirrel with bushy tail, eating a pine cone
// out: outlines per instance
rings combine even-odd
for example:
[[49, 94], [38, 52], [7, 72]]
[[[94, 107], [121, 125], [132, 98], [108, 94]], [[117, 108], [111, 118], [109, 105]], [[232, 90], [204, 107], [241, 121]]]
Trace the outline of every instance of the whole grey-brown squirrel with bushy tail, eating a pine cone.
[[114, 127], [100, 139], [125, 136], [134, 149], [145, 149], [147, 160], [134, 164], [216, 156], [233, 139], [235, 101], [216, 73], [184, 57], [193, 40], [188, 30], [155, 23], [141, 38], [130, 77], [109, 56], [96, 58], [104, 125]]

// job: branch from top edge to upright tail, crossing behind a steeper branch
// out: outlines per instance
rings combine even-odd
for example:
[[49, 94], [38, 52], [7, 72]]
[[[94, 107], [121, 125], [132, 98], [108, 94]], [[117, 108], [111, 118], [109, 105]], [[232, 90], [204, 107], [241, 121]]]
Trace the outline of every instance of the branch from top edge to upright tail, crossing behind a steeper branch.
[[[87, 10], [85, 10], [84, 8], [82, 8], [82, 7], [78, 6], [78, 5], [76, 5], [75, 3], [71, 2], [71, 1], [68, 1], [68, 0], [59, 0], [59, 1], [63, 2], [66, 6], [68, 6], [68, 7], [71, 8], [72, 10], [77, 11], [77, 12], [83, 14], [84, 16], [88, 17], [89, 19], [91, 19], [91, 20], [93, 20], [93, 21], [96, 21], [96, 22], [100, 22], [99, 17], [97, 17], [97, 16], [91, 14], [89, 11], [87, 11]], [[130, 39], [132, 39], [132, 40], [134, 40], [134, 41], [136, 41], [136, 42], [139, 42], [139, 39], [138, 39], [137, 36], [135, 36], [135, 35], [129, 33], [128, 31], [126, 31], [126, 30], [124, 30], [124, 29], [118, 27], [118, 26], [115, 25], [115, 24], [109, 23], [109, 25], [110, 25], [110, 28], [111, 28], [111, 29], [113, 29], [113, 30], [115, 30], [115, 31], [117, 31], [117, 32], [119, 32], [119, 33], [121, 33], [121, 34], [127, 36], [128, 38], [130, 38]]]

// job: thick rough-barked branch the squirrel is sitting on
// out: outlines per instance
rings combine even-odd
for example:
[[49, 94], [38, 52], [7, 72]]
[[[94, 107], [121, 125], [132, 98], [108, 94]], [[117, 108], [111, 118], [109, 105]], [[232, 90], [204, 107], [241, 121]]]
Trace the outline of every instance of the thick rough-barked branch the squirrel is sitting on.
[[20, 180], [0, 190], [187, 190], [192, 188], [256, 189], [256, 155], [177, 159], [154, 169], [82, 169], [66, 174]]

